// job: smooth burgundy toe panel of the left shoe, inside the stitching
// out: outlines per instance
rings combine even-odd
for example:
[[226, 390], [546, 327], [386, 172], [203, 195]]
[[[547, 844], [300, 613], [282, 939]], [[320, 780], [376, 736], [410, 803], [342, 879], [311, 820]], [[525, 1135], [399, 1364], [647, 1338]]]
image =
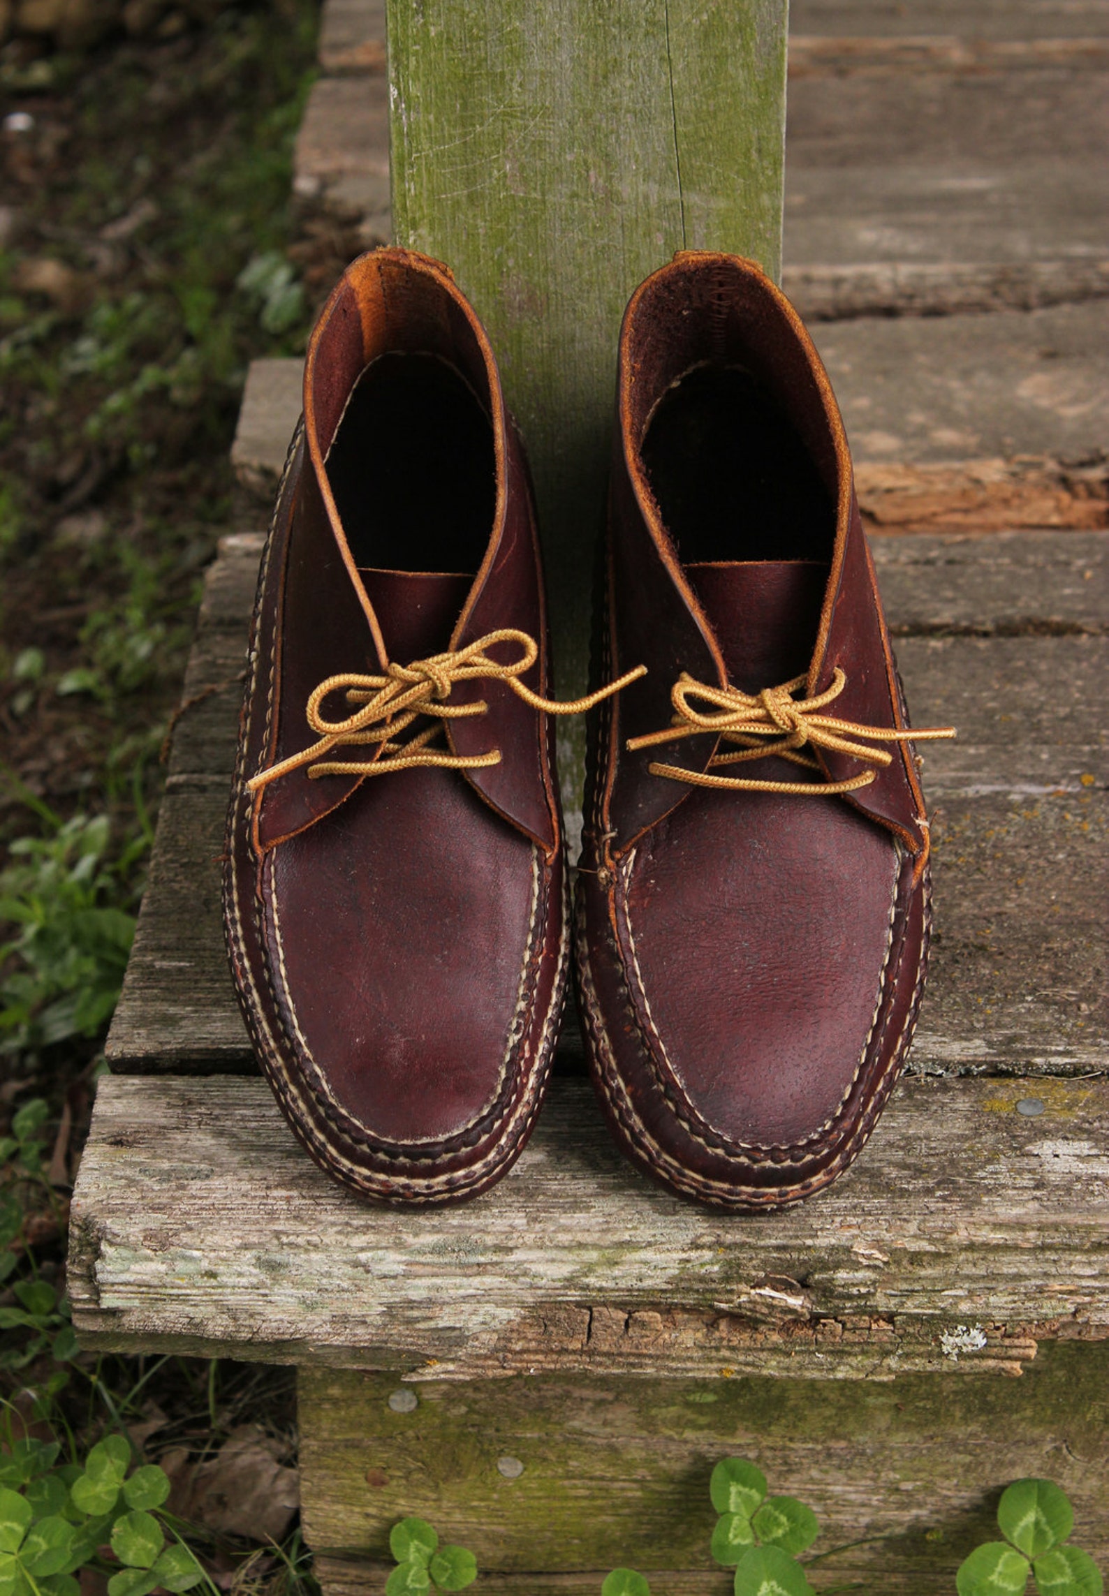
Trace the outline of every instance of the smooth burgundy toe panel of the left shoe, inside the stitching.
[[265, 868], [286, 1057], [333, 1133], [415, 1163], [495, 1135], [538, 1001], [535, 844], [453, 772], [404, 771], [364, 782]]

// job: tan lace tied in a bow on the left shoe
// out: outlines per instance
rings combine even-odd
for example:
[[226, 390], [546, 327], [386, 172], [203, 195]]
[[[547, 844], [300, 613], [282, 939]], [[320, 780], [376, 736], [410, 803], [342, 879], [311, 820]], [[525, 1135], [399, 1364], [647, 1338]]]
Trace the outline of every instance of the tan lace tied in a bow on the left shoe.
[[[517, 643], [520, 658], [506, 666], [498, 664], [485, 653], [493, 643]], [[499, 749], [491, 749], [488, 753], [461, 755], [450, 753], [447, 749], [428, 747], [431, 739], [444, 731], [442, 721], [483, 715], [488, 707], [483, 699], [474, 704], [448, 704], [447, 699], [455, 681], [472, 681], [477, 677], [487, 681], [506, 681], [533, 709], [546, 710], [549, 715], [579, 715], [610, 694], [619, 693], [646, 670], [645, 666], [638, 666], [638, 669], [622, 675], [619, 681], [610, 681], [608, 686], [598, 688], [597, 693], [560, 704], [557, 699], [539, 697], [519, 680], [525, 670], [531, 669], [538, 656], [539, 648], [535, 638], [514, 627], [504, 627], [499, 632], [479, 637], [466, 648], [432, 654], [431, 659], [413, 659], [410, 666], [389, 664], [383, 675], [327, 677], [311, 693], [305, 712], [308, 725], [319, 736], [319, 742], [271, 764], [266, 771], [259, 771], [246, 784], [247, 790], [257, 792], [302, 764], [311, 764], [308, 771], [311, 780], [321, 776], [385, 776], [388, 771], [408, 771], [420, 764], [448, 771], [477, 771], [487, 764], [499, 764]], [[321, 713], [321, 704], [330, 693], [345, 693], [348, 704], [361, 704], [362, 707], [345, 720], [326, 720]], [[405, 742], [397, 742], [399, 734], [407, 731], [421, 715], [431, 717], [432, 725], [424, 726]], [[367, 744], [377, 744], [373, 757], [369, 760], [326, 758], [332, 749]]]

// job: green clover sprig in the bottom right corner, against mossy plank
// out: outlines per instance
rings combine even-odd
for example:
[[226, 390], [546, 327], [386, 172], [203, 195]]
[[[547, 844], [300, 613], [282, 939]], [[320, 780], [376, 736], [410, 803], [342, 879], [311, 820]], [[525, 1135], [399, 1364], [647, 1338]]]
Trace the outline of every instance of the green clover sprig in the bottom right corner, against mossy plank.
[[1039, 1596], [1101, 1596], [1093, 1558], [1063, 1545], [1074, 1510], [1050, 1479], [1013, 1481], [997, 1503], [997, 1524], [1005, 1539], [970, 1553], [956, 1575], [959, 1596], [1013, 1596], [1028, 1590], [1029, 1574]]

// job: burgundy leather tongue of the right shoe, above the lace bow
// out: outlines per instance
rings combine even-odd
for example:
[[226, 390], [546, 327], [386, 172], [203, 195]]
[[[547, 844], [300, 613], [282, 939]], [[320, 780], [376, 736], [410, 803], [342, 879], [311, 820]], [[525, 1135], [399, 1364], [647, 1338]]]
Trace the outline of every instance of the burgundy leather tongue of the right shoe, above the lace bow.
[[822, 560], [720, 560], [685, 571], [732, 686], [761, 693], [806, 674], [828, 584]]

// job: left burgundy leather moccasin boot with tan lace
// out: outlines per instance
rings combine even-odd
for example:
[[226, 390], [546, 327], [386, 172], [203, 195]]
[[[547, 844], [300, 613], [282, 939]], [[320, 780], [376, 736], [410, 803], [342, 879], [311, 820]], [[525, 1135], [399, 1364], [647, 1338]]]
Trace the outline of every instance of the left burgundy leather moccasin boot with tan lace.
[[346, 1186], [474, 1195], [558, 1028], [563, 705], [520, 440], [434, 260], [365, 255], [319, 318], [247, 677], [225, 921], [262, 1068]]

